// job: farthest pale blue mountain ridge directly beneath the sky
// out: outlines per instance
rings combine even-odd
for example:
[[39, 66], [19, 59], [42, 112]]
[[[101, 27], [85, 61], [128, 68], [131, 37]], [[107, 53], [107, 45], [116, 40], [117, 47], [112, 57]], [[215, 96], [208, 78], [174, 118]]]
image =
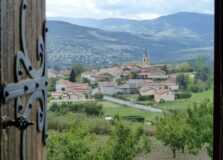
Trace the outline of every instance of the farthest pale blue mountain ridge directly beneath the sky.
[[[164, 31], [184, 31], [184, 33], [213, 33], [214, 16], [211, 14], [180, 12], [162, 16], [153, 20], [130, 19], [90, 19], [51, 17], [49, 20], [64, 21], [80, 26], [98, 28], [108, 31], [131, 32], [137, 34], [165, 35]], [[188, 31], [188, 32], [186, 32]], [[168, 34], [169, 35], [169, 34]], [[177, 33], [175, 35], [178, 35]], [[190, 36], [190, 35], [189, 35]]]

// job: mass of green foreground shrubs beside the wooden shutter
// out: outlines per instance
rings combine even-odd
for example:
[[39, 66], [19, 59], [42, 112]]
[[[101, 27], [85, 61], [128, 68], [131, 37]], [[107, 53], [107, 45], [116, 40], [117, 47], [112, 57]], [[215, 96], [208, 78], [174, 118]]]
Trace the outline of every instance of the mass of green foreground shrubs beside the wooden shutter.
[[[83, 114], [68, 113], [61, 118], [69, 127], [59, 132], [50, 128], [48, 160], [133, 160], [138, 153], [151, 151], [150, 139], [144, 136], [141, 126], [122, 120], [116, 120], [112, 126], [104, 119]], [[109, 137], [98, 143], [95, 133]]]

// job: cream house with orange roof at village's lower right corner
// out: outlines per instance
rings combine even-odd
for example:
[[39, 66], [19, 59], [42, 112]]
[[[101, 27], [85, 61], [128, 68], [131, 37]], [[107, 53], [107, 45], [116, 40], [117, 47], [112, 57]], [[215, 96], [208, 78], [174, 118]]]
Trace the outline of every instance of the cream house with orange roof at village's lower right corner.
[[154, 100], [157, 103], [161, 101], [175, 101], [175, 93], [174, 91], [163, 89], [163, 90], [156, 90]]

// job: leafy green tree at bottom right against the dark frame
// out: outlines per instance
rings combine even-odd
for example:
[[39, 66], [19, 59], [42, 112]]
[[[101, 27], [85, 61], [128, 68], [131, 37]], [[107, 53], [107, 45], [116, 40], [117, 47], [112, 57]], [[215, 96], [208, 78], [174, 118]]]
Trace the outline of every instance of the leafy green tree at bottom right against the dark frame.
[[196, 154], [204, 144], [207, 144], [207, 152], [210, 157], [213, 155], [213, 104], [194, 104], [192, 109], [188, 109], [187, 123], [187, 145], [189, 150]]

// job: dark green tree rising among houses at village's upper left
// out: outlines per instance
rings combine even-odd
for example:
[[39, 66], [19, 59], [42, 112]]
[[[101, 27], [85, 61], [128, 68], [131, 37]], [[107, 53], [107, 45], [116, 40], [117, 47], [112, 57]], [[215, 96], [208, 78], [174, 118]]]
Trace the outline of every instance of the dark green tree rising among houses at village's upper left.
[[86, 69], [81, 64], [76, 64], [70, 72], [69, 81], [71, 82], [80, 81], [80, 75], [85, 70]]

